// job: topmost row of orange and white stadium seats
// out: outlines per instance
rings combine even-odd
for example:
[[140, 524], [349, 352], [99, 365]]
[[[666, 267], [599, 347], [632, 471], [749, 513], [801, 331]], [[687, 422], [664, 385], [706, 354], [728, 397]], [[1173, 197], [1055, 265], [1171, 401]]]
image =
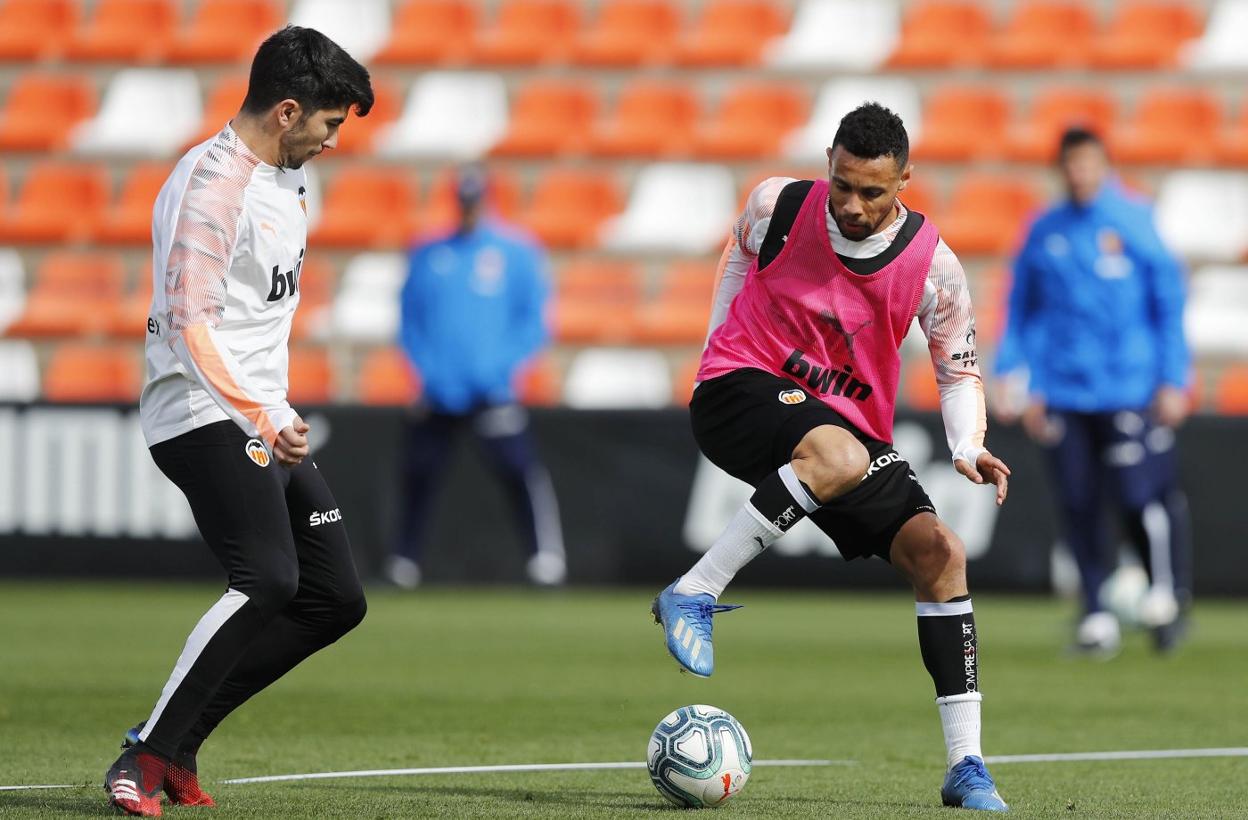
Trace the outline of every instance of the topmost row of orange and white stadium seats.
[[[1022, 0], [1001, 19], [976, 0], [921, 0], [905, 14], [894, 0], [708, 0], [690, 15], [675, 0], [602, 0], [593, 12], [577, 0], [500, 0], [492, 14], [473, 0], [406, 0], [393, 12], [388, 0], [198, 0], [185, 21], [176, 0], [99, 0], [90, 15], [84, 5], [4, 0], [0, 60], [237, 62], [290, 20], [382, 65], [1244, 67], [1226, 31], [1248, 22], [1236, 0], [1208, 26], [1181, 0], [1123, 0], [1103, 21], [1078, 0]], [[829, 31], [855, 36], [827, 49]]]

